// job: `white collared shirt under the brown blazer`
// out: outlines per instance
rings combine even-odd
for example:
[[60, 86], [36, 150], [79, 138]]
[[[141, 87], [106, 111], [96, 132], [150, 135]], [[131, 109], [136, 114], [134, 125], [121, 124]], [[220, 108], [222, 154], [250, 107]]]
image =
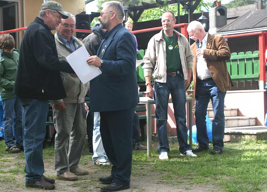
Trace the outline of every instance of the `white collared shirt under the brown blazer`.
[[[204, 39], [202, 39], [202, 42], [201, 42], [202, 47], [199, 43], [199, 46], [201, 47], [202, 50], [206, 49], [207, 39], [208, 39], [208, 33], [206, 33]], [[205, 58], [203, 58], [203, 55], [200, 55], [197, 57], [197, 74], [198, 74], [198, 79], [200, 80], [204, 80], [204, 79], [208, 79], [212, 77], [207, 67], [207, 61]]]

